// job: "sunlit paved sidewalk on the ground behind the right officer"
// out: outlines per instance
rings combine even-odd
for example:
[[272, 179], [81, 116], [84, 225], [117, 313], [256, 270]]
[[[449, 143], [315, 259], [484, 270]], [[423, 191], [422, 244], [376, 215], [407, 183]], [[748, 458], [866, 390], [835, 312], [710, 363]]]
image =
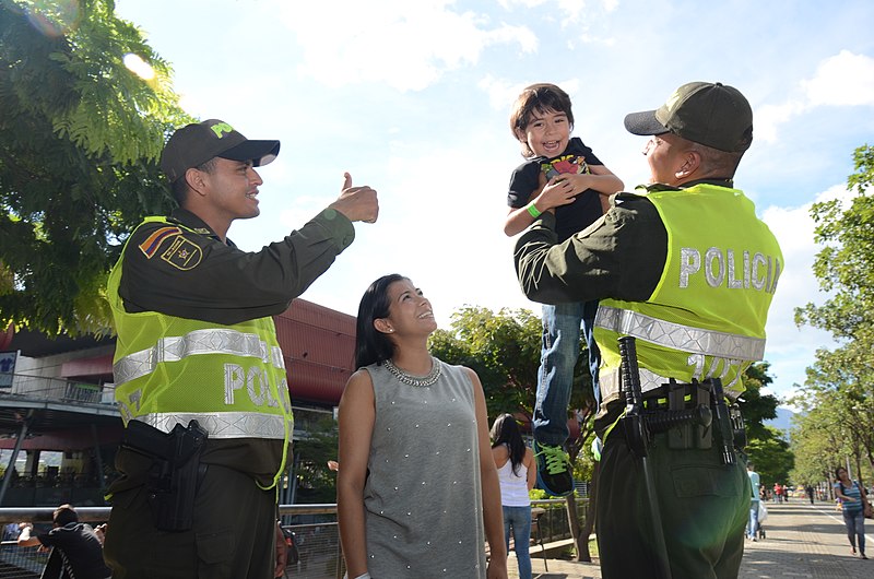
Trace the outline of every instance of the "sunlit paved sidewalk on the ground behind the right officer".
[[[874, 521], [865, 521], [869, 560], [850, 555], [850, 543], [843, 519], [834, 504], [805, 499], [792, 503], [766, 503], [768, 520], [764, 523], [766, 539], [746, 542], [740, 579], [770, 578], [840, 578], [870, 579], [874, 577]], [[531, 547], [534, 577], [540, 579], [601, 579], [598, 563], [571, 563], [548, 559], [544, 571], [539, 547]], [[518, 578], [516, 557], [507, 564], [509, 576]], [[681, 579], [681, 578], [675, 578]]]

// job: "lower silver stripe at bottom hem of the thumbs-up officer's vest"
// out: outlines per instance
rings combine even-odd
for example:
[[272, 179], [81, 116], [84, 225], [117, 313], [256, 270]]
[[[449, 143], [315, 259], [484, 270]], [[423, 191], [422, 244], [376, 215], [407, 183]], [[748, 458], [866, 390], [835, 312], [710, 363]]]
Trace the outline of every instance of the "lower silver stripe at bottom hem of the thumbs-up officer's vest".
[[[174, 412], [137, 416], [158, 430], [169, 433], [176, 424], [188, 426], [192, 420], [210, 433], [210, 438], [274, 438], [285, 439], [285, 421], [276, 414], [252, 412]], [[291, 435], [291, 433], [288, 433]]]

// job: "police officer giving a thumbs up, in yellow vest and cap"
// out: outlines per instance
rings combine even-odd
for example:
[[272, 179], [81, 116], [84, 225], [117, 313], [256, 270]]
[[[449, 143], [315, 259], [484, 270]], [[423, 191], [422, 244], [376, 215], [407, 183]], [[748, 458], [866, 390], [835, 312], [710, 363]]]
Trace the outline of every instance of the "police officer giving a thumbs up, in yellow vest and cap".
[[376, 191], [353, 187], [261, 251], [231, 224], [259, 214], [279, 141], [211, 119], [177, 130], [161, 167], [179, 209], [146, 217], [108, 281], [126, 434], [109, 488], [105, 556], [118, 579], [269, 579], [276, 483], [293, 417], [272, 316], [288, 308], [373, 223]]

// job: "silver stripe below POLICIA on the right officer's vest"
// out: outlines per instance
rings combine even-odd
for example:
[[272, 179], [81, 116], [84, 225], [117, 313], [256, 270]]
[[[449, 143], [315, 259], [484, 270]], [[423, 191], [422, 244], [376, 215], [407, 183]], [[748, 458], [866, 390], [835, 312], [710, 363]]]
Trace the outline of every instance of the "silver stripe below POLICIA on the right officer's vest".
[[690, 328], [628, 309], [599, 306], [594, 324], [693, 354], [744, 361], [760, 361], [765, 357], [763, 338]]

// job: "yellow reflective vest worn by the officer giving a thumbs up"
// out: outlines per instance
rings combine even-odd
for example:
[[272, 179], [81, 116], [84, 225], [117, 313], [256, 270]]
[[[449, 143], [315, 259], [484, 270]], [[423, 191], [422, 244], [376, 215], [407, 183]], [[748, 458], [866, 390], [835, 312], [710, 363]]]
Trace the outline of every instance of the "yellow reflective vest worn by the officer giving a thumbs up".
[[210, 439], [284, 440], [275, 485], [294, 418], [273, 319], [224, 326], [158, 311], [130, 314], [118, 294], [122, 261], [123, 251], [107, 295], [118, 333], [113, 371], [125, 424], [137, 420], [169, 433], [177, 423], [197, 420]]

